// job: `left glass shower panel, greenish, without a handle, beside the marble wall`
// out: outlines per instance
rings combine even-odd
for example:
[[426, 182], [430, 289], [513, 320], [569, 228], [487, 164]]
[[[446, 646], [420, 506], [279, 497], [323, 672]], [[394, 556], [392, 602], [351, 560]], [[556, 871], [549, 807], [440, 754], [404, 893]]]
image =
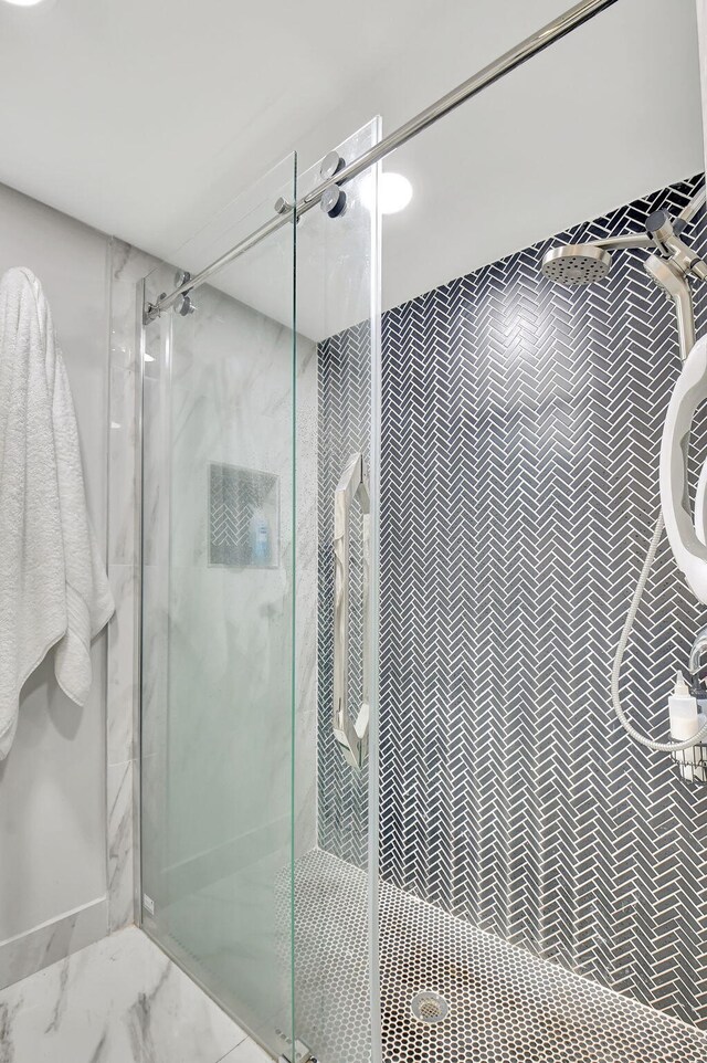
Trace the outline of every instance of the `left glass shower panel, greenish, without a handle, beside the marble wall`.
[[[295, 199], [294, 159], [183, 248], [194, 275]], [[145, 929], [289, 1054], [294, 225], [145, 330]], [[147, 278], [148, 298], [175, 267]]]

